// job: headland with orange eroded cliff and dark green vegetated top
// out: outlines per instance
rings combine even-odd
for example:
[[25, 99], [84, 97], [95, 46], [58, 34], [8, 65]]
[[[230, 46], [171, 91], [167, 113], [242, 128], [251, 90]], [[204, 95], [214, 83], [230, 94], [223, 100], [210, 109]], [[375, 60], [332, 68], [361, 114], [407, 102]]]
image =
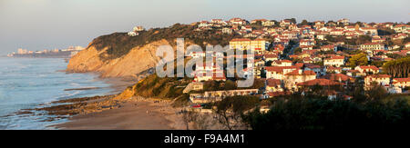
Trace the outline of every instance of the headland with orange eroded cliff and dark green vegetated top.
[[160, 45], [170, 44], [175, 49], [177, 38], [185, 38], [186, 46], [227, 45], [235, 37], [217, 34], [213, 30], [198, 32], [194, 31], [195, 28], [195, 25], [176, 24], [142, 31], [137, 36], [128, 36], [126, 33], [99, 36], [70, 59], [67, 72], [99, 72], [101, 77], [138, 79], [141, 73], [158, 63], [155, 52]]

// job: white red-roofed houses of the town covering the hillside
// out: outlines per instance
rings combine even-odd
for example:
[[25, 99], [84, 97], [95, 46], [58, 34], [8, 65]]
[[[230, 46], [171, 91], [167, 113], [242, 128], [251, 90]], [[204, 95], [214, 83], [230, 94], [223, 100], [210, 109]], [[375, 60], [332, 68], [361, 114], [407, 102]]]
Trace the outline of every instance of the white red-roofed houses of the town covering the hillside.
[[[244, 70], [263, 82], [262, 88], [204, 91], [210, 81], [226, 82], [226, 69], [214, 63], [197, 67], [194, 80], [184, 89], [194, 104], [209, 103], [232, 95], [258, 95], [261, 99], [285, 94], [306, 94], [313, 87], [326, 88], [329, 99], [352, 99], [349, 88], [374, 85], [389, 94], [408, 94], [408, 60], [400, 76], [385, 70], [384, 64], [410, 54], [410, 25], [404, 23], [352, 23], [314, 21], [297, 24], [294, 18], [281, 21], [232, 18], [192, 23], [197, 32], [214, 31], [221, 35], [240, 35], [229, 42], [230, 49], [254, 51], [254, 63]], [[128, 35], [138, 35], [138, 26]], [[205, 56], [190, 53], [191, 58]], [[223, 57], [223, 54], [213, 54]], [[224, 57], [226, 58], [226, 57]], [[244, 57], [246, 58], [246, 57]]]

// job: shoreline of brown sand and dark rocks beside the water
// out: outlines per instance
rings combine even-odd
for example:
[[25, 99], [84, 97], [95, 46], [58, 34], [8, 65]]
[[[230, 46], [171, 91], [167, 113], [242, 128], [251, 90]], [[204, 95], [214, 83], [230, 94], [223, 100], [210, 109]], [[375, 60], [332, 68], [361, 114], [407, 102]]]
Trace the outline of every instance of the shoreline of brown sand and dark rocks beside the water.
[[[57, 72], [73, 73], [67, 70], [57, 70]], [[119, 96], [128, 86], [138, 83], [137, 80], [124, 77], [101, 77], [98, 72], [83, 74], [96, 75], [95, 80], [109, 84], [108, 87], [112, 91], [107, 95], [69, 98], [38, 104], [36, 108], [22, 109], [14, 114], [47, 115], [46, 119], [40, 122], [65, 119], [60, 123], [46, 126], [55, 130], [184, 129], [185, 126], [180, 121], [180, 108], [173, 108], [171, 100]], [[65, 91], [99, 88], [78, 87]]]

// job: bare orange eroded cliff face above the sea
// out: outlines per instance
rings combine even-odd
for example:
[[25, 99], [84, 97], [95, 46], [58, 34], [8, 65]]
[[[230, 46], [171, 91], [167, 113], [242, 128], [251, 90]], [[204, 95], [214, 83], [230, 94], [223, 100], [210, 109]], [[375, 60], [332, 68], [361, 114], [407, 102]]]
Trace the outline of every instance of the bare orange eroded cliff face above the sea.
[[[155, 55], [160, 45], [169, 44], [167, 40], [159, 40], [143, 46], [132, 48], [128, 54], [109, 60], [103, 60], [108, 48], [97, 50], [89, 45], [87, 49], [74, 55], [68, 65], [67, 72], [86, 73], [99, 72], [101, 77], [124, 77], [138, 79], [141, 72], [155, 67], [159, 57]], [[175, 50], [175, 48], [174, 48]]]

